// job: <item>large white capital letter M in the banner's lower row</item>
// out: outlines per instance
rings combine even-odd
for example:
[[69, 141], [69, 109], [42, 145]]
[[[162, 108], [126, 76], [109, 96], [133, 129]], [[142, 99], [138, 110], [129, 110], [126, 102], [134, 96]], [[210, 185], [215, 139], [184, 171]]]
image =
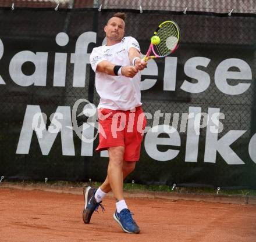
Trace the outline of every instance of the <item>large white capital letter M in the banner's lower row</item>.
[[[38, 114], [41, 114], [40, 106], [27, 105], [16, 154], [29, 154], [33, 131], [35, 131], [43, 155], [47, 156], [49, 154], [57, 134], [61, 132], [62, 154], [64, 156], [74, 156], [73, 130], [67, 128], [72, 126], [70, 107], [63, 106], [57, 108], [56, 115], [52, 116], [52, 122], [49, 125], [48, 131], [43, 117], [41, 118], [40, 127], [35, 128], [38, 125], [33, 124], [33, 118], [34, 115], [38, 117]], [[58, 120], [58, 118], [61, 119]]]

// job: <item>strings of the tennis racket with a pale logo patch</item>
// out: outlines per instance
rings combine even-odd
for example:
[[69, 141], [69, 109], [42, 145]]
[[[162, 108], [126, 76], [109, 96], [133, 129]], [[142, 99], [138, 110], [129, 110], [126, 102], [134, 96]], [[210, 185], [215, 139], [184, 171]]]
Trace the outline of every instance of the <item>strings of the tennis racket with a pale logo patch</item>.
[[157, 32], [157, 36], [160, 38], [160, 43], [154, 45], [154, 50], [159, 56], [166, 56], [175, 49], [178, 40], [179, 32], [174, 23], [168, 22], [162, 25]]

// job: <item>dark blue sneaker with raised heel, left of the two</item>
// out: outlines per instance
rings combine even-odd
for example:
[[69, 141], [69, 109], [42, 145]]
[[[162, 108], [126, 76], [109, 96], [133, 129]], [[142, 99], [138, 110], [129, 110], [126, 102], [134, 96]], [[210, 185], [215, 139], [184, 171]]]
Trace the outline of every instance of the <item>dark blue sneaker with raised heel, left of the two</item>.
[[83, 211], [83, 221], [84, 223], [90, 223], [91, 215], [93, 215], [94, 211], [98, 212], [98, 207], [101, 206], [102, 212], [105, 211], [103, 205], [101, 205], [101, 201], [97, 203], [94, 195], [97, 189], [93, 189], [88, 186], [84, 189], [84, 211]]

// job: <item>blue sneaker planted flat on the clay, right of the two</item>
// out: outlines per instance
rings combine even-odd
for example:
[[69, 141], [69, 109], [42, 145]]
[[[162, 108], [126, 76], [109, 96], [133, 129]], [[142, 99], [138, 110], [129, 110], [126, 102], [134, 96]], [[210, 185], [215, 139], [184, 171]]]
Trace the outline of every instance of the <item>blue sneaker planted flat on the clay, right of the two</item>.
[[131, 212], [127, 208], [123, 209], [120, 214], [116, 211], [115, 214], [113, 214], [113, 217], [126, 233], [140, 233], [140, 227], [138, 227], [136, 222], [133, 220]]

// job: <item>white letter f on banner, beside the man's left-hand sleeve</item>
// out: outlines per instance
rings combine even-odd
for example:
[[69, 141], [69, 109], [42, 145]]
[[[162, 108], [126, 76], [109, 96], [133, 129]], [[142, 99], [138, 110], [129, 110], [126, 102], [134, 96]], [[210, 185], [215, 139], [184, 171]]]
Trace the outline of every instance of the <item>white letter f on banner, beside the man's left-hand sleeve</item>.
[[96, 43], [95, 32], [84, 32], [76, 41], [75, 53], [71, 54], [70, 63], [74, 64], [73, 86], [83, 88], [86, 83], [86, 64], [90, 64], [88, 45]]

